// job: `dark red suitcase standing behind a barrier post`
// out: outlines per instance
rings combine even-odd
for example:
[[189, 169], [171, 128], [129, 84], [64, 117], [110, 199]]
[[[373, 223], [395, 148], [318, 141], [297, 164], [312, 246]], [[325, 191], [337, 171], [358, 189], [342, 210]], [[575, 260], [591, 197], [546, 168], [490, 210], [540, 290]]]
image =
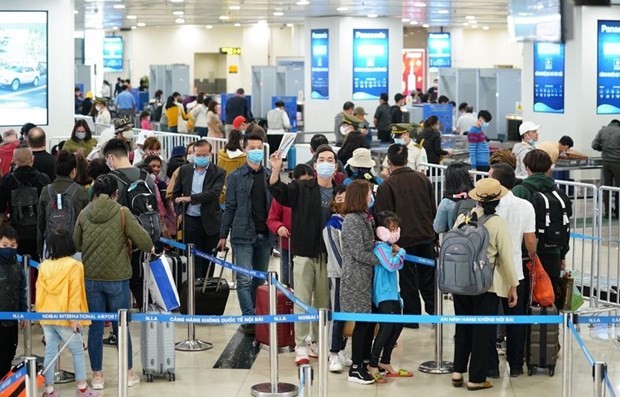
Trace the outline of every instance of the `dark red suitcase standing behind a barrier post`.
[[[291, 291], [292, 292], [292, 291]], [[277, 291], [276, 309], [277, 314], [293, 314], [293, 302], [281, 291]], [[269, 314], [269, 286], [261, 285], [256, 290], [256, 314]], [[281, 323], [278, 327], [278, 348], [288, 347], [295, 349], [295, 324]], [[269, 324], [256, 324], [256, 342], [269, 346]]]

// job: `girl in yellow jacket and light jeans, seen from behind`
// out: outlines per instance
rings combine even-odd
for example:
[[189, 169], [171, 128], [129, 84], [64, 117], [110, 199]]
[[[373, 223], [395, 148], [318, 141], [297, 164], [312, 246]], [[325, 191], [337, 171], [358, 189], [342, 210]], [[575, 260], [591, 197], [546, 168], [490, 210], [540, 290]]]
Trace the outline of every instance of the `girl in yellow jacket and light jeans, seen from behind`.
[[[73, 236], [66, 231], [52, 234], [50, 239], [50, 259], [39, 266], [37, 279], [37, 313], [66, 312], [88, 313], [86, 291], [84, 288], [84, 267], [82, 263], [72, 258], [76, 249]], [[98, 393], [91, 390], [86, 383], [86, 360], [80, 329], [90, 325], [90, 321], [42, 320], [45, 335], [45, 362], [47, 366], [60, 345], [67, 343], [73, 334], [67, 348], [73, 355], [73, 368], [77, 385], [76, 396], [95, 397]], [[60, 394], [54, 391], [54, 366], [43, 374], [45, 376], [45, 390], [43, 397], [57, 397]]]

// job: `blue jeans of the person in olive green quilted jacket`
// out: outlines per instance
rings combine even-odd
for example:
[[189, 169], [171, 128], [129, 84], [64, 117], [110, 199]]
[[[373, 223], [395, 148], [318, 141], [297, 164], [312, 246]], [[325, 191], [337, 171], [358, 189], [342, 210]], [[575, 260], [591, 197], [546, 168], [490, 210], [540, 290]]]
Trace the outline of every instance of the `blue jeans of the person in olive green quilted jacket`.
[[[86, 279], [86, 301], [91, 313], [116, 313], [129, 309], [129, 280], [98, 281]], [[103, 370], [103, 321], [93, 321], [88, 330], [88, 357], [90, 369]], [[112, 322], [112, 330], [118, 335], [118, 323]], [[128, 338], [129, 369], [133, 368], [131, 337]]]

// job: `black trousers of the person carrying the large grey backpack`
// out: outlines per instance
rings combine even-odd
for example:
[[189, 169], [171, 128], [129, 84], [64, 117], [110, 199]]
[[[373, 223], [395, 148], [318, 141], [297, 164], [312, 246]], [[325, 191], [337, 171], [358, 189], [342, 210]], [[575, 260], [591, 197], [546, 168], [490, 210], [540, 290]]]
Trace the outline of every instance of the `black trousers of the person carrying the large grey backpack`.
[[[453, 295], [454, 313], [462, 315], [497, 315], [497, 295]], [[469, 362], [469, 381], [483, 383], [487, 379], [489, 340], [495, 341], [495, 326], [480, 324], [457, 324], [454, 341], [454, 372], [465, 373]], [[495, 350], [495, 343], [493, 343]]]

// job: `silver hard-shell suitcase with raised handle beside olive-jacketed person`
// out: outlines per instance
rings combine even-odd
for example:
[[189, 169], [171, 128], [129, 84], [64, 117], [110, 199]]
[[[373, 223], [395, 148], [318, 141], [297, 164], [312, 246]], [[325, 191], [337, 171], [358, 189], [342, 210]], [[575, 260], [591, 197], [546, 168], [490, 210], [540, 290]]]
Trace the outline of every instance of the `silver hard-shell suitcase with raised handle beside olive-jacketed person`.
[[[145, 259], [147, 259], [145, 257]], [[144, 266], [145, 272], [150, 272], [149, 266]], [[144, 280], [148, 280], [145, 274]], [[170, 314], [163, 312], [157, 306], [148, 307], [149, 289], [144, 283], [144, 312], [148, 314]], [[174, 324], [162, 322], [140, 323], [140, 356], [142, 359], [142, 373], [146, 381], [152, 382], [153, 376], [167, 376], [168, 381], [175, 379], [175, 341]]]

